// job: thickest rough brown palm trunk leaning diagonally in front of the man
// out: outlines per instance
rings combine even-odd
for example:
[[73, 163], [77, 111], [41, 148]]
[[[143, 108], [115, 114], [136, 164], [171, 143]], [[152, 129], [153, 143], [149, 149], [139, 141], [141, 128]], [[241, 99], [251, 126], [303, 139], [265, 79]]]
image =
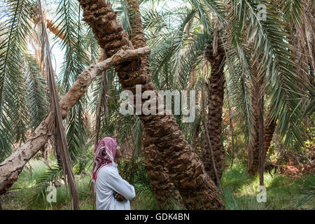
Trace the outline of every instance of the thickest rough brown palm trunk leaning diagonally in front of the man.
[[[110, 3], [80, 0], [80, 5], [85, 22], [92, 27], [95, 38], [108, 57], [119, 49], [134, 48], [121, 23], [117, 21], [117, 12], [113, 11]], [[134, 40], [136, 46], [140, 39]], [[140, 59], [120, 64], [116, 66], [116, 71], [125, 90], [135, 94], [136, 85], [141, 85], [141, 92], [153, 90], [155, 96], [158, 96], [158, 91], [151, 83], [151, 77]], [[141, 115], [139, 118], [144, 126], [144, 150], [151, 154], [149, 160], [163, 162], [168, 169], [169, 179], [179, 190], [186, 208], [224, 209], [220, 192], [205, 172], [202, 161], [185, 140], [176, 119], [172, 115]]]

